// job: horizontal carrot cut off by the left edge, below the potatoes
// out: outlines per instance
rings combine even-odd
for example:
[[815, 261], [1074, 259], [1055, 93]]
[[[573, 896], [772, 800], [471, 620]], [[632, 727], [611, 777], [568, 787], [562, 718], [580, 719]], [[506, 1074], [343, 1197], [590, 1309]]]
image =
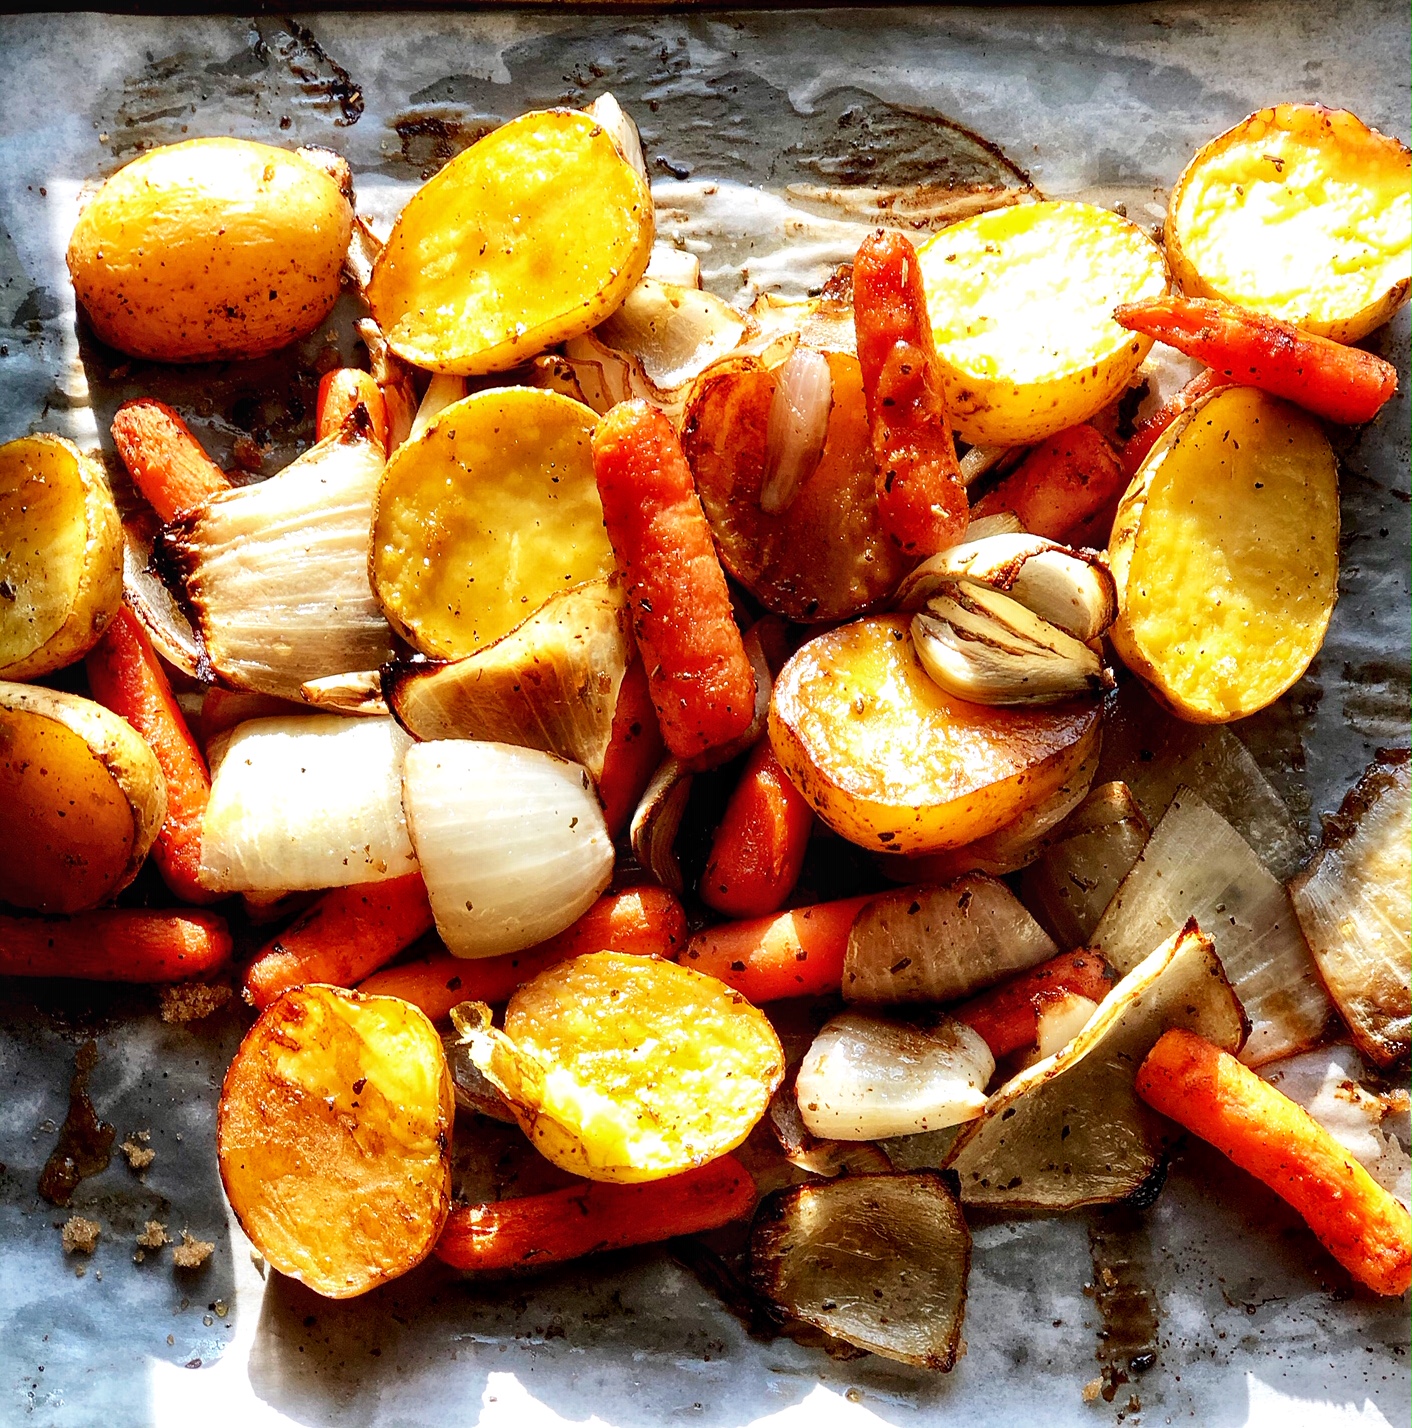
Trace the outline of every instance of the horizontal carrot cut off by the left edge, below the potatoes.
[[103, 908], [74, 917], [0, 915], [0, 975], [84, 981], [176, 981], [220, 967], [231, 952], [214, 912]]

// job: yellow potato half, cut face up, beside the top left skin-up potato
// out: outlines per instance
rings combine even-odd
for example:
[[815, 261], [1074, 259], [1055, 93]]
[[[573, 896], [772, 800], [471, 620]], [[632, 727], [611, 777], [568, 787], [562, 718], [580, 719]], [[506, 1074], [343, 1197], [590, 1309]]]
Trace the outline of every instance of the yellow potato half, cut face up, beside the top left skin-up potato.
[[403, 210], [368, 304], [398, 357], [504, 371], [601, 323], [647, 271], [652, 196], [592, 114], [521, 114]]

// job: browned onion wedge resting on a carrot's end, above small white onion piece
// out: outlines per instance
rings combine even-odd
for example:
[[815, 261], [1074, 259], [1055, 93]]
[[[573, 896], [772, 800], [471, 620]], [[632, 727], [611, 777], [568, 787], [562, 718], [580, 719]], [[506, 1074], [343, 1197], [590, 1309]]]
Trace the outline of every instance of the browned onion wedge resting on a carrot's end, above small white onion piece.
[[969, 873], [934, 887], [885, 892], [848, 934], [844, 997], [871, 1002], [947, 1002], [1058, 948], [1004, 883]]

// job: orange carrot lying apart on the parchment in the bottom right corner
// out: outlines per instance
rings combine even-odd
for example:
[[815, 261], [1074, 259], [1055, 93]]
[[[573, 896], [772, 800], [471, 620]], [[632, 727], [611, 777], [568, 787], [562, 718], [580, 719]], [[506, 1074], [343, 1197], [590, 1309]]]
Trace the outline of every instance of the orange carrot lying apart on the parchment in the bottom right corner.
[[1302, 1107], [1189, 1031], [1162, 1035], [1138, 1095], [1264, 1181], [1376, 1294], [1412, 1287], [1412, 1215]]

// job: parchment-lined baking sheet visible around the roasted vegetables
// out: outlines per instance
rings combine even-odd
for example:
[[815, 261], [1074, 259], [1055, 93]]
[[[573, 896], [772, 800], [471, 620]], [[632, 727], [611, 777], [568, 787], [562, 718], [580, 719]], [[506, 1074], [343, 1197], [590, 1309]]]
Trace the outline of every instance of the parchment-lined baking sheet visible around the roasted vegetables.
[[[1322, 99], [1412, 136], [1412, 23], [1398, 3], [909, 9], [774, 14], [30, 16], [0, 20], [0, 440], [83, 443], [157, 390], [190, 406], [227, 460], [238, 436], [267, 471], [308, 436], [304, 350], [154, 387], [76, 330], [63, 250], [83, 186], [140, 146], [197, 134], [323, 143], [391, 217], [424, 171], [523, 109], [611, 89], [638, 120], [662, 231], [712, 286], [805, 284], [772, 257], [804, 243], [822, 268], [877, 204], [942, 173], [1001, 174], [944, 120], [1004, 150], [1049, 196], [1158, 218], [1195, 147], [1276, 99]], [[971, 166], [971, 167], [968, 167]], [[989, 166], [989, 167], [987, 167]], [[937, 194], [922, 194], [922, 200]], [[918, 200], [918, 201], [922, 201]], [[1412, 327], [1386, 353], [1412, 371]], [[301, 370], [303, 368], [303, 370]], [[1312, 821], [1376, 745], [1412, 733], [1412, 426], [1398, 398], [1343, 453], [1342, 598], [1309, 675], [1239, 727]], [[0, 818], [4, 814], [0, 811]], [[1406, 1422], [1412, 1324], [1335, 1275], [1258, 1185], [1199, 1148], [1122, 1230], [1151, 1287], [1155, 1365], [1111, 1404], [1081, 1388], [1101, 1328], [1085, 1294], [1096, 1221], [977, 1228], [954, 1374], [835, 1362], [760, 1342], [667, 1255], [608, 1257], [500, 1287], [424, 1267], [348, 1305], [251, 1262], [220, 1192], [211, 1110], [238, 1041], [234, 1011], [170, 1027], [146, 990], [0, 982], [0, 1422], [647, 1425], [754, 1422], [1211, 1425]], [[118, 1157], [73, 1210], [97, 1220], [91, 1261], [64, 1257], [66, 1212], [37, 1197], [77, 1048]], [[148, 1218], [216, 1242], [198, 1272], [134, 1262]], [[1109, 1247], [1111, 1248], [1111, 1247]], [[80, 1277], [76, 1271], [83, 1268]], [[1131, 1397], [1129, 1397], [1131, 1395]]]

